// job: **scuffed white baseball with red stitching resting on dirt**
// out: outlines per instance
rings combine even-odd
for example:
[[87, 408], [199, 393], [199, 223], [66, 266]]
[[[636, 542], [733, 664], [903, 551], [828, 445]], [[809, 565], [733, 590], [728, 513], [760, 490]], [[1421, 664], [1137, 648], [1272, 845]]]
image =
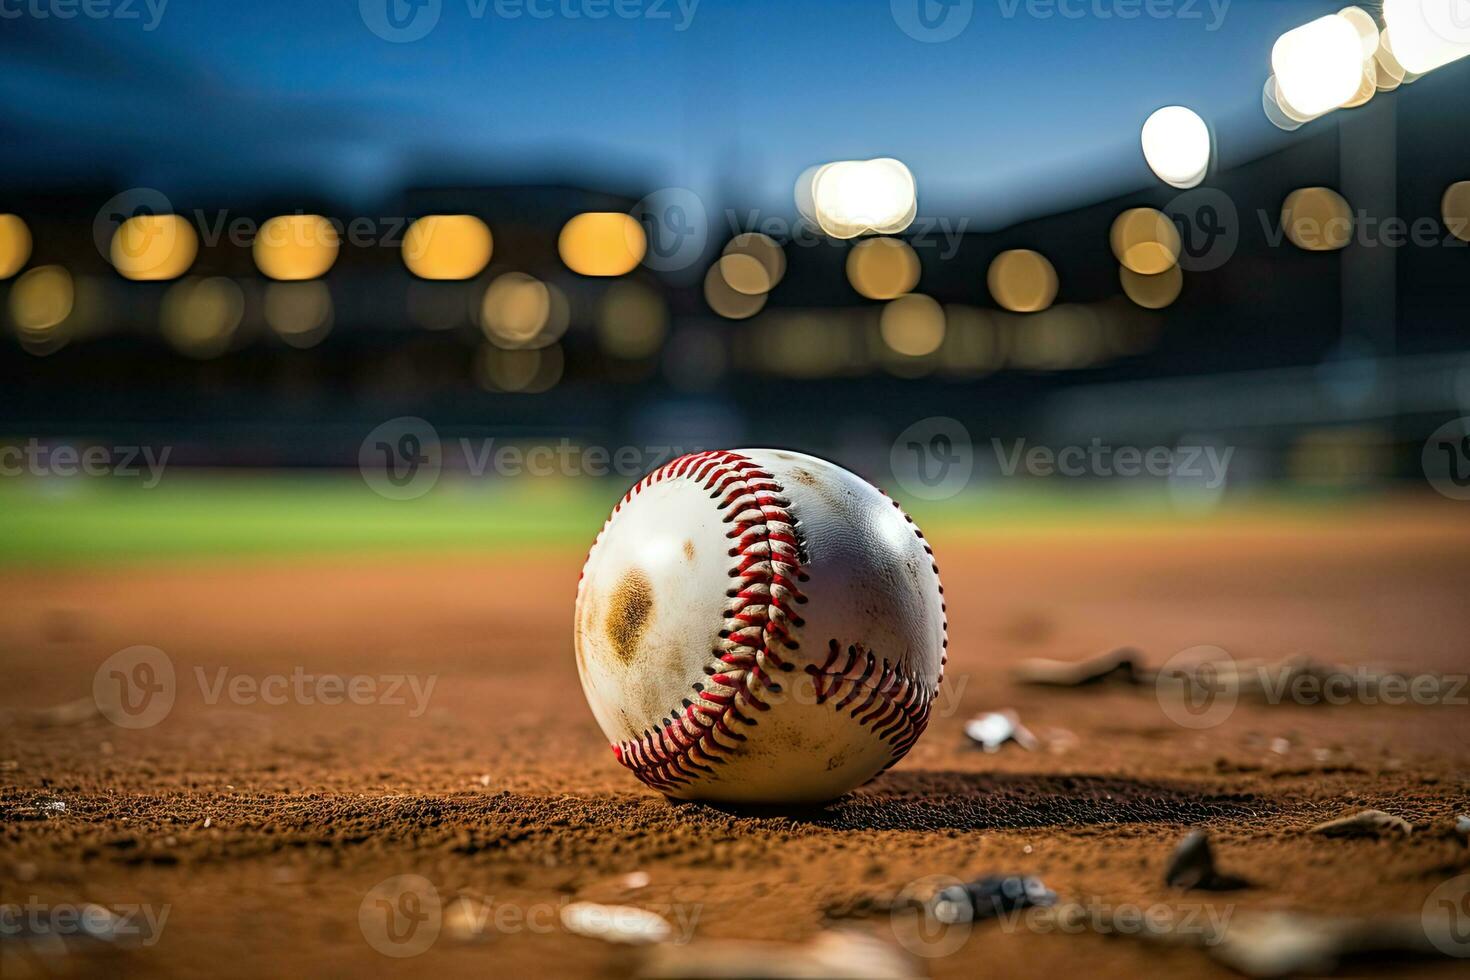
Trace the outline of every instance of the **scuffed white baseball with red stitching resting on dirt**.
[[681, 799], [822, 802], [901, 760], [944, 674], [933, 551], [882, 491], [782, 450], [642, 478], [592, 544], [576, 666], [613, 754]]

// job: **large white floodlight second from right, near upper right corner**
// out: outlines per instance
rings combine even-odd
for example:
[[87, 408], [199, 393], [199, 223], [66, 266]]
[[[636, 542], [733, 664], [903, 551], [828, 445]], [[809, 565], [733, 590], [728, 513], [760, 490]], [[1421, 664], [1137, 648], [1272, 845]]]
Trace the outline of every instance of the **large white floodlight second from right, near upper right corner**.
[[1282, 100], [1304, 116], [1320, 116], [1358, 94], [1363, 40], [1351, 21], [1329, 13], [1276, 38], [1272, 71]]

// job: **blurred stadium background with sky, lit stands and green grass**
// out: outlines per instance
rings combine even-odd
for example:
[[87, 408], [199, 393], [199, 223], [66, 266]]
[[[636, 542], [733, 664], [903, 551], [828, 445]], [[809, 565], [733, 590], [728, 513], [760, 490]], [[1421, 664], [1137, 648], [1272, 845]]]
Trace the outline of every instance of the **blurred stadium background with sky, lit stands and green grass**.
[[[939, 44], [889, 4], [800, 6], [706, 0], [679, 29], [678, 7], [447, 4], [403, 44], [351, 4], [7, 19], [0, 445], [169, 458], [147, 492], [0, 480], [0, 554], [581, 542], [600, 520], [598, 480], [451, 453], [415, 505], [365, 494], [363, 439], [406, 416], [648, 466], [785, 445], [888, 485], [895, 436], [951, 417], [975, 478], [917, 507], [988, 526], [1429, 492], [1426, 436], [1470, 413], [1470, 60], [1283, 132], [1272, 43], [1333, 4], [1236, 0], [1216, 28], [980, 4]], [[1195, 190], [1138, 148], [1170, 103], [1213, 131]], [[886, 156], [917, 184], [907, 228], [801, 216], [804, 167]], [[1283, 228], [1289, 200], [1351, 231]], [[1147, 275], [1116, 247], [1139, 207], [1179, 232]], [[991, 439], [1235, 455], [1183, 500], [1001, 479]]]

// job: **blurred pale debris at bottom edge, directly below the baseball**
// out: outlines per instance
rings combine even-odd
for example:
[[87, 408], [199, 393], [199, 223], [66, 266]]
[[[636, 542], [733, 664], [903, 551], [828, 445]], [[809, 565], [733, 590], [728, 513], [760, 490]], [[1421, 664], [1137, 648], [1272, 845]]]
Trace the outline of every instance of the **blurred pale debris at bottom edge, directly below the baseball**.
[[907, 980], [922, 977], [923, 968], [897, 946], [864, 933], [838, 929], [819, 933], [804, 943], [714, 939], [688, 946], [656, 946], [645, 955], [637, 976], [645, 980]]

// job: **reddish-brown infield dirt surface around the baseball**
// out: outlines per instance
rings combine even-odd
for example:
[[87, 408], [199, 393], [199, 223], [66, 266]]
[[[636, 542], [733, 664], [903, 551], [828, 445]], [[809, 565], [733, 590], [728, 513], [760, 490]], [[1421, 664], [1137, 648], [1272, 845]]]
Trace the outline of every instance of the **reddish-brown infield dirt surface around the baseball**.
[[[151, 945], [69, 940], [59, 954], [0, 939], [3, 974], [623, 976], [637, 951], [556, 929], [556, 909], [663, 908], [692, 921], [695, 942], [800, 940], [833, 926], [892, 940], [872, 908], [932, 874], [1030, 873], [1107, 907], [1417, 917], [1436, 884], [1470, 871], [1452, 830], [1470, 813], [1464, 707], [1247, 699], [1195, 730], [1151, 688], [1023, 688], [1008, 671], [1025, 657], [1123, 644], [1152, 663], [1216, 644], [1236, 657], [1466, 671], [1464, 513], [1424, 504], [1295, 523], [931, 535], [951, 627], [936, 717], [895, 770], [794, 814], [672, 805], [616, 765], [570, 651], [582, 555], [10, 569], [0, 902], [146, 904], [168, 907], [168, 920]], [[160, 724], [47, 711], [88, 698], [101, 661], [137, 644], [176, 669]], [[407, 689], [406, 704], [210, 704], [220, 669], [226, 682], [297, 669], [437, 680], [417, 716]], [[964, 721], [1004, 707], [1047, 746], [970, 746]], [[63, 813], [34, 811], [53, 798]], [[1414, 835], [1305, 833], [1369, 807], [1413, 821]], [[1194, 827], [1251, 887], [1163, 883]], [[623, 880], [635, 871], [645, 886]], [[490, 902], [503, 927], [472, 940], [444, 921], [422, 955], [382, 955], [359, 912], [400, 874], [422, 876], [445, 904]], [[1195, 949], [997, 923], [920, 968], [1232, 976]]]

